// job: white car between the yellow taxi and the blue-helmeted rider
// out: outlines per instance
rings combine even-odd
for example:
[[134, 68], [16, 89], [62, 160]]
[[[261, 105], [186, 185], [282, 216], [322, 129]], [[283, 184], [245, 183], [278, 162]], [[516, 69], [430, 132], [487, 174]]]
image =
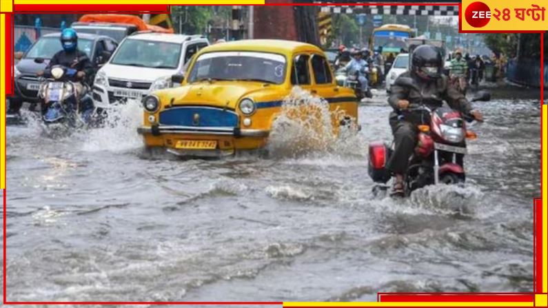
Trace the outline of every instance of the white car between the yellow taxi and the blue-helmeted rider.
[[126, 37], [95, 75], [93, 101], [111, 107], [172, 86], [172, 75], [210, 43], [201, 35], [139, 33]]

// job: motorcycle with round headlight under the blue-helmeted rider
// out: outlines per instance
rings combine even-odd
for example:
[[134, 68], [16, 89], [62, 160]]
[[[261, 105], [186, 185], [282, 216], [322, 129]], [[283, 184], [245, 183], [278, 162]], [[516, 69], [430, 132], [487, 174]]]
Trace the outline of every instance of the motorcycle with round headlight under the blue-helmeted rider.
[[41, 98], [42, 121], [46, 125], [61, 124], [85, 127], [93, 120], [94, 104], [88, 95], [90, 87], [83, 83], [83, 93], [77, 93], [73, 82], [77, 70], [54, 65], [51, 78], [41, 78], [38, 96]]

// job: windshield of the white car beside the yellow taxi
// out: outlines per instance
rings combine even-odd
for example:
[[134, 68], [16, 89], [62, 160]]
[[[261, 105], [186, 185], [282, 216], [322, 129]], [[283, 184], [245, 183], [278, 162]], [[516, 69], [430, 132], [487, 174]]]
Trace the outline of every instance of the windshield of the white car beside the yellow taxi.
[[141, 68], [177, 68], [180, 59], [180, 43], [126, 39], [110, 63]]

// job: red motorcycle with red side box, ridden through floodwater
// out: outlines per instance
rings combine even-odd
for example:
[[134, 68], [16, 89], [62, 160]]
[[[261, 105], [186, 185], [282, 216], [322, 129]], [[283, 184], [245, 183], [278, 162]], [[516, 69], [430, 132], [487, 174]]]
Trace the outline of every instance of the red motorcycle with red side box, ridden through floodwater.
[[[414, 88], [420, 93], [414, 81], [400, 77], [396, 85]], [[427, 98], [435, 99], [437, 98]], [[470, 114], [461, 114], [449, 107], [431, 109], [425, 105], [425, 98], [418, 104], [409, 105], [409, 108], [400, 112], [400, 120], [418, 123], [418, 142], [414, 154], [409, 158], [409, 167], [404, 177], [405, 196], [409, 196], [415, 189], [426, 185], [459, 184], [465, 182], [463, 158], [467, 154], [466, 138], [474, 139], [476, 134], [467, 130], [465, 121], [474, 121]], [[489, 92], [478, 92], [471, 101], [489, 101]], [[375, 183], [374, 193], [386, 190], [385, 185], [391, 172], [386, 168], [386, 162], [392, 155], [391, 146], [376, 141], [369, 144], [368, 174]]]

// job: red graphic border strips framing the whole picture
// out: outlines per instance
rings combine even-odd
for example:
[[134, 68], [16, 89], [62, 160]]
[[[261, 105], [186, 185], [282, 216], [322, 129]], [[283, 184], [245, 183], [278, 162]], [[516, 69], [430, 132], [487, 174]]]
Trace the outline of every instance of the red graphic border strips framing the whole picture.
[[[459, 20], [462, 17], [461, 3], [268, 3], [268, 6], [457, 6], [459, 9]], [[198, 5], [195, 5], [198, 6]], [[226, 4], [225, 6], [232, 6], [232, 4]], [[71, 5], [70, 10], [65, 5], [17, 5], [13, 6], [13, 13], [6, 13], [6, 24], [10, 24], [10, 27], [13, 31], [12, 24], [12, 14], [15, 13], [32, 13], [32, 12], [41, 12], [45, 14], [54, 14], [55, 12], [105, 12], [105, 7], [108, 8], [110, 12], [159, 12], [166, 13], [170, 11], [170, 5]], [[39, 10], [37, 10], [39, 8]], [[7, 27], [6, 27], [7, 28]], [[544, 43], [544, 32], [542, 31], [463, 31], [461, 28], [461, 22], [459, 22], [458, 30], [461, 33], [540, 33], [540, 48], [541, 48], [541, 104], [542, 104], [542, 94], [543, 94], [543, 43]], [[13, 34], [6, 30], [6, 37], [13, 37]], [[6, 44], [7, 45], [7, 44]], [[12, 44], [13, 45], [13, 44]], [[8, 63], [11, 65], [12, 62], [12, 46], [7, 46], [9, 50], [6, 52], [6, 65]], [[9, 54], [9, 56], [8, 56]], [[8, 59], [9, 57], [9, 59]], [[13, 72], [12, 72], [13, 75]], [[6, 76], [7, 77], [7, 76]], [[12, 81], [9, 81], [10, 87], [12, 89]], [[8, 78], [6, 78], [6, 85], [8, 85]], [[6, 94], [12, 94], [7, 92]], [[541, 121], [542, 114], [541, 114]], [[540, 127], [542, 131], [542, 124]], [[541, 132], [542, 133], [542, 132]], [[6, 150], [6, 149], [4, 149]], [[542, 134], [541, 134], [541, 151], [542, 151]], [[542, 167], [541, 160], [541, 167]], [[541, 181], [542, 189], [542, 181]], [[542, 292], [542, 262], [536, 262], [537, 260], [542, 260], [542, 202], [540, 198], [534, 200], [534, 291], [536, 293]], [[8, 302], [6, 298], [6, 284], [7, 284], [7, 275], [6, 275], [6, 189], [3, 189], [3, 304], [5, 305], [283, 305], [283, 302]], [[381, 300], [382, 298], [382, 300]], [[397, 294], [387, 294], [387, 293], [378, 293], [378, 301], [383, 302], [416, 302], [416, 301], [446, 301], [448, 298], [451, 300], [458, 300], [463, 302], [530, 302], [534, 301], [534, 294], [532, 293], [447, 293], [447, 294], [413, 294], [413, 293], [397, 293]], [[405, 307], [405, 306], [403, 306]], [[325, 307], [324, 307], [325, 308]]]

